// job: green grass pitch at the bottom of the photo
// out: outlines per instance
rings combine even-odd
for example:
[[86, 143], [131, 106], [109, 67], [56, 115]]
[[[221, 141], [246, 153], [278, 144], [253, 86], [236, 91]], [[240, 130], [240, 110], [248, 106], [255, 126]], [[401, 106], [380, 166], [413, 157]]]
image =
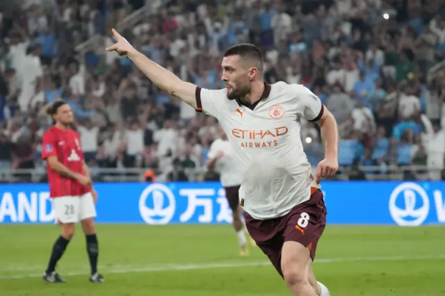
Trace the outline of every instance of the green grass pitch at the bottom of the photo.
[[[259, 249], [238, 256], [229, 225], [99, 224], [102, 284], [88, 281], [86, 242], [76, 231], [58, 265], [67, 283], [54, 285], [41, 274], [58, 227], [1, 225], [0, 295], [290, 295]], [[332, 296], [445, 295], [445, 228], [328, 225], [314, 271]]]

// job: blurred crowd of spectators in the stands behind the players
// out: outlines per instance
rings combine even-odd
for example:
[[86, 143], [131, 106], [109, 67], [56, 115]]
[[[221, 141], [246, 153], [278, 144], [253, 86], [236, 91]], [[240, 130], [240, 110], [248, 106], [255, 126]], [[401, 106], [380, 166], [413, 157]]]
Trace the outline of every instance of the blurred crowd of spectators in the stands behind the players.
[[[0, 1], [0, 179], [44, 181], [44, 104], [66, 100], [95, 179], [218, 179], [217, 122], [106, 53], [115, 27], [181, 79], [223, 88], [227, 47], [261, 47], [266, 81], [301, 83], [339, 124], [338, 179], [442, 179], [443, 0]], [[316, 126], [302, 122], [315, 167]], [[26, 172], [23, 173], [23, 172]]]

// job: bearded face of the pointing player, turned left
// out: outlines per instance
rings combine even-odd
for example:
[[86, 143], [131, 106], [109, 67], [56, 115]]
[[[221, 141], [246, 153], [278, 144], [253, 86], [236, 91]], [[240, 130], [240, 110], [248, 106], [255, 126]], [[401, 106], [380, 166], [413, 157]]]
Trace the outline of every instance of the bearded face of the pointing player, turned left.
[[252, 68], [246, 68], [239, 56], [225, 56], [221, 66], [228, 99], [242, 98], [250, 92]]

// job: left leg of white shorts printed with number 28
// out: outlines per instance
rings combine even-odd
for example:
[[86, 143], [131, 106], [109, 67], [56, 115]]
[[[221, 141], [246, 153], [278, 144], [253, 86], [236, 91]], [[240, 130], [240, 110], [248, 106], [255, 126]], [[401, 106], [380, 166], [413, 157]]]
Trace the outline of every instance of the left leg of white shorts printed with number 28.
[[77, 223], [80, 220], [80, 201], [77, 196], [52, 199], [54, 218], [58, 224]]

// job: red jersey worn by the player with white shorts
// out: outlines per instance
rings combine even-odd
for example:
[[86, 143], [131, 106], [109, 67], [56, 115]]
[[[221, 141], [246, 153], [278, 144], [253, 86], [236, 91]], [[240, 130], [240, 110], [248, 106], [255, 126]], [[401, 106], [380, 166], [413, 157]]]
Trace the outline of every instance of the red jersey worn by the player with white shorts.
[[[58, 129], [52, 126], [42, 138], [42, 159], [57, 156], [68, 170], [83, 174], [83, 152], [79, 133], [73, 129]], [[79, 196], [90, 192], [78, 181], [60, 176], [47, 165], [50, 197]]]

